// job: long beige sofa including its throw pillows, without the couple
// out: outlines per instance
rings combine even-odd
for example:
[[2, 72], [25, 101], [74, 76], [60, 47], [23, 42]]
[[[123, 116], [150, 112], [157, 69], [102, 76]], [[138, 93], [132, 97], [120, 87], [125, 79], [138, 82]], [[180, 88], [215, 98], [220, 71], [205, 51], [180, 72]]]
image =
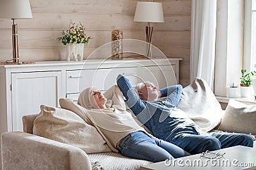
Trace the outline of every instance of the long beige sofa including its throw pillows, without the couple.
[[[191, 97], [193, 97], [192, 101]], [[23, 117], [24, 132], [2, 134], [3, 169], [140, 169], [140, 166], [152, 163], [111, 152], [104, 139], [90, 124], [90, 120], [81, 118], [83, 117], [81, 106], [70, 99], [60, 99], [60, 105], [61, 108], [42, 105], [40, 114]], [[227, 125], [236, 121], [237, 115], [241, 116], [240, 112], [243, 112], [242, 106], [240, 108], [234, 106], [237, 106], [237, 103], [227, 106], [227, 118], [225, 118], [220, 103], [207, 83], [198, 78], [184, 88], [179, 103], [179, 108], [186, 111], [204, 131], [228, 129], [229, 132], [237, 132], [238, 125], [234, 127]], [[254, 112], [244, 116], [247, 120], [243, 120], [243, 125], [238, 126], [239, 132], [256, 134], [255, 124], [246, 124], [246, 121], [252, 122], [256, 118], [256, 109], [252, 109]], [[237, 112], [234, 120], [228, 119], [230, 111]], [[247, 108], [244, 112], [248, 113]], [[45, 125], [45, 122], [49, 124]], [[223, 122], [225, 124], [222, 124]], [[77, 134], [81, 137], [80, 141], [73, 141], [77, 137], [74, 136], [77, 133], [76, 129], [81, 129], [79, 133], [84, 133]], [[69, 134], [68, 138], [67, 134]], [[84, 140], [86, 142], [81, 143]]]

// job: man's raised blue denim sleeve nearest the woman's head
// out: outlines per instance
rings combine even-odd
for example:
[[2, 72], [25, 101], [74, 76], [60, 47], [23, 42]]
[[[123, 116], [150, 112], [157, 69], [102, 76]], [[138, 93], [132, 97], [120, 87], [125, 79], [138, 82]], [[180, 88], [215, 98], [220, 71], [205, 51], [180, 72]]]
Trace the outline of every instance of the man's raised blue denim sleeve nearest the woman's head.
[[141, 111], [145, 108], [145, 104], [141, 101], [140, 97], [136, 94], [134, 89], [132, 89], [130, 81], [125, 78], [125, 76], [119, 74], [116, 78], [116, 82], [119, 89], [122, 91], [129, 108], [131, 108], [135, 115], [140, 114]]

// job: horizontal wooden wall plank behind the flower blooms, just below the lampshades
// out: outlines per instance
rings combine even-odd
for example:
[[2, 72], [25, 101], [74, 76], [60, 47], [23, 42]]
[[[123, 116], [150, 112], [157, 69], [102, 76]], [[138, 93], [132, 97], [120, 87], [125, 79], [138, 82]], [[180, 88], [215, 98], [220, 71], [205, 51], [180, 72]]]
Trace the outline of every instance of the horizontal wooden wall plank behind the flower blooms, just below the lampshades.
[[[12, 48], [11, 32], [2, 31], [4, 34], [0, 41], [1, 48]], [[27, 36], [29, 34], [29, 36]], [[88, 31], [88, 35], [92, 36], [88, 46], [97, 47], [111, 42], [111, 31]], [[60, 31], [52, 30], [20, 30], [19, 31], [19, 47], [20, 48], [40, 48], [40, 47], [60, 47], [61, 41], [56, 40], [61, 36]], [[188, 39], [190, 32], [188, 31], [154, 31], [152, 36], [152, 44], [156, 46], [182, 46], [189, 48], [190, 41]], [[124, 39], [140, 39], [145, 41], [145, 32], [141, 31], [124, 31]]]

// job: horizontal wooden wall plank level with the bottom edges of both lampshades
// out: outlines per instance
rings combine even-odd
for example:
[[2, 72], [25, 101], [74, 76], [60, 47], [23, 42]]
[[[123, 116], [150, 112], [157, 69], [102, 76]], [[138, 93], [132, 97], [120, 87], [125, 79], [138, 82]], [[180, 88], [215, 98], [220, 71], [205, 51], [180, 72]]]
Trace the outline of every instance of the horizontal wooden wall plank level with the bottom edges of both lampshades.
[[[45, 18], [49, 18], [45, 20]], [[101, 20], [99, 21], [99, 18]], [[70, 20], [78, 24], [81, 21], [87, 30], [106, 31], [113, 27], [122, 30], [143, 30], [146, 22], [133, 22], [134, 15], [119, 14], [85, 14], [85, 13], [33, 13], [33, 18], [20, 19], [15, 22], [19, 30], [61, 30], [68, 29]], [[154, 30], [163, 31], [188, 31], [190, 30], [191, 17], [189, 16], [166, 16], [164, 23], [154, 23]], [[12, 20], [0, 22], [0, 29], [11, 29]]]

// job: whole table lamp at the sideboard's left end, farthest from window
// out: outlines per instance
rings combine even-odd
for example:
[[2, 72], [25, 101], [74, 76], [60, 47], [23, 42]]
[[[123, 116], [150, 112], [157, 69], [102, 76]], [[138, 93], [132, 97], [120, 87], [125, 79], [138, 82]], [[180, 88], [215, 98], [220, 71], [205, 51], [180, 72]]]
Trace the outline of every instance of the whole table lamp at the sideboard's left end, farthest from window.
[[[15, 19], [32, 18], [29, 0], [0, 0], [0, 19], [12, 19], [13, 63], [19, 63], [18, 26]], [[8, 60], [9, 61], [9, 60]], [[6, 61], [7, 62], [7, 61]]]

